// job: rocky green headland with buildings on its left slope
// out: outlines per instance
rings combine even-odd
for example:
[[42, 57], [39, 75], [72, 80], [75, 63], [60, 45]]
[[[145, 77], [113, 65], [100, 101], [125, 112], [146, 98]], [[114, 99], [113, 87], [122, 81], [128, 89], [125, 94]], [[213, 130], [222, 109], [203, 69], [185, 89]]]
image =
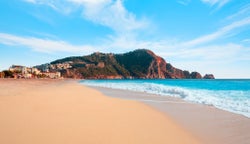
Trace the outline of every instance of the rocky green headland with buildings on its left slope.
[[76, 79], [214, 79], [199, 72], [181, 70], [147, 49], [124, 54], [95, 52], [51, 63], [25, 67], [12, 65], [0, 78], [76, 78]]

